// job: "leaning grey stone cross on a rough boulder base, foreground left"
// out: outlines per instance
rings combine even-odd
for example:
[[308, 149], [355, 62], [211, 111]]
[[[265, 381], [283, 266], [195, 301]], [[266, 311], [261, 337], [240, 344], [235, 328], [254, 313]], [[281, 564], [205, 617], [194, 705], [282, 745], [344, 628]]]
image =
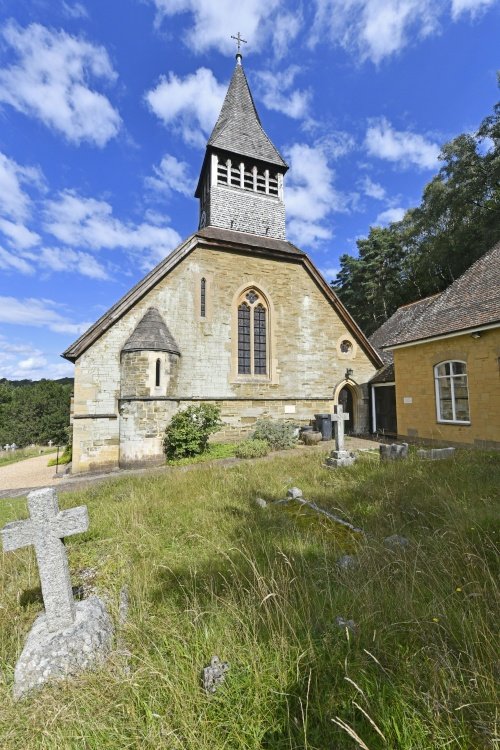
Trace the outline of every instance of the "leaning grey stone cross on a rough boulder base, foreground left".
[[33, 545], [40, 571], [47, 629], [61, 630], [75, 619], [68, 558], [63, 537], [87, 531], [87, 508], [59, 510], [57, 493], [51, 488], [28, 495], [29, 521], [8, 523], [0, 534], [5, 552]]

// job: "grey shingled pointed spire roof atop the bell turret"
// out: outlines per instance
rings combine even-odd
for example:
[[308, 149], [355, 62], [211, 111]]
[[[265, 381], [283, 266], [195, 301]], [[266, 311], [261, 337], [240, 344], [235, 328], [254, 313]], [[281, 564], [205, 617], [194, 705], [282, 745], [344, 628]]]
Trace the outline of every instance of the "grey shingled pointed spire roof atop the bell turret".
[[288, 169], [287, 163], [264, 132], [240, 63], [234, 69], [208, 146]]

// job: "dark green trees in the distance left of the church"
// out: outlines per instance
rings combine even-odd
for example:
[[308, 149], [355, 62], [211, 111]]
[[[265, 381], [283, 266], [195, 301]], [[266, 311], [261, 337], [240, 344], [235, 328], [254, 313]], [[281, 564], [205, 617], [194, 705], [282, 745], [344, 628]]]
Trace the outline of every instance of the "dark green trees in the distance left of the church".
[[72, 378], [0, 380], [0, 445], [68, 441]]

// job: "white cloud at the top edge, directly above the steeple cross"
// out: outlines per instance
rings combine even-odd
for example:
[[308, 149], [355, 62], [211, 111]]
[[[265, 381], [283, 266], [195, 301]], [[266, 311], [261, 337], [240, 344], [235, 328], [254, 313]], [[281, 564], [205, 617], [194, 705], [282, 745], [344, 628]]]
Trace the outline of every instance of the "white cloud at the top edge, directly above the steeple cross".
[[[152, 0], [158, 11], [158, 20], [180, 13], [192, 14], [192, 26], [186, 34], [186, 43], [194, 52], [215, 48], [223, 54], [236, 51], [234, 40], [240, 29], [252, 49], [259, 49], [269, 36], [278, 36], [280, 44], [297, 30], [290, 22], [289, 13], [280, 21], [281, 0]], [[243, 45], [245, 47], [246, 45]]]

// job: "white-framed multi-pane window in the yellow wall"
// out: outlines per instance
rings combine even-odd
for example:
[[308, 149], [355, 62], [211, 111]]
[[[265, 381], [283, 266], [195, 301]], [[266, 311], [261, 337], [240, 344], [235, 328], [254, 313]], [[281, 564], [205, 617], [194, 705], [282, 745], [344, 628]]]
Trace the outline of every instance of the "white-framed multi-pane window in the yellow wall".
[[467, 364], [456, 360], [434, 367], [438, 422], [470, 424]]

